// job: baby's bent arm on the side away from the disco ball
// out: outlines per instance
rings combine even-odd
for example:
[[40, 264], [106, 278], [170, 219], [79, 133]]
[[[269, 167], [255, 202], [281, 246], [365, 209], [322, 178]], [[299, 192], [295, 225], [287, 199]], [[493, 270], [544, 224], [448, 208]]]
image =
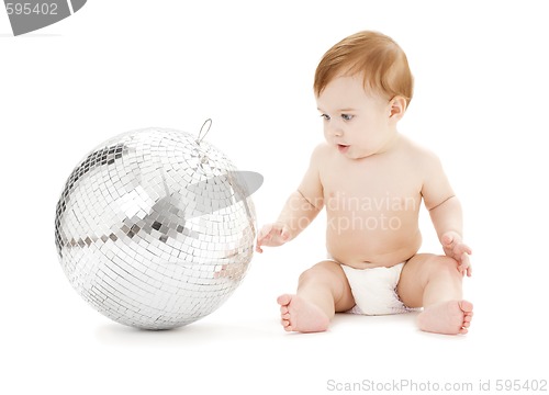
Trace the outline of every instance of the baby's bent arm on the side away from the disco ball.
[[458, 261], [458, 270], [471, 275], [471, 249], [462, 242], [463, 219], [461, 204], [448, 182], [440, 160], [433, 154], [426, 156], [422, 195], [430, 219], [448, 257]]

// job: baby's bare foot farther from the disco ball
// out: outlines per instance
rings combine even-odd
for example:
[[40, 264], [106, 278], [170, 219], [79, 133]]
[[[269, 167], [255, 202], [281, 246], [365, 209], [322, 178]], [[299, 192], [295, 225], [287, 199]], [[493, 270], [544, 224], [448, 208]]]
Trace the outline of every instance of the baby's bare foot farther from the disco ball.
[[450, 301], [425, 307], [417, 316], [419, 329], [442, 335], [464, 335], [473, 316], [473, 305], [467, 301]]

